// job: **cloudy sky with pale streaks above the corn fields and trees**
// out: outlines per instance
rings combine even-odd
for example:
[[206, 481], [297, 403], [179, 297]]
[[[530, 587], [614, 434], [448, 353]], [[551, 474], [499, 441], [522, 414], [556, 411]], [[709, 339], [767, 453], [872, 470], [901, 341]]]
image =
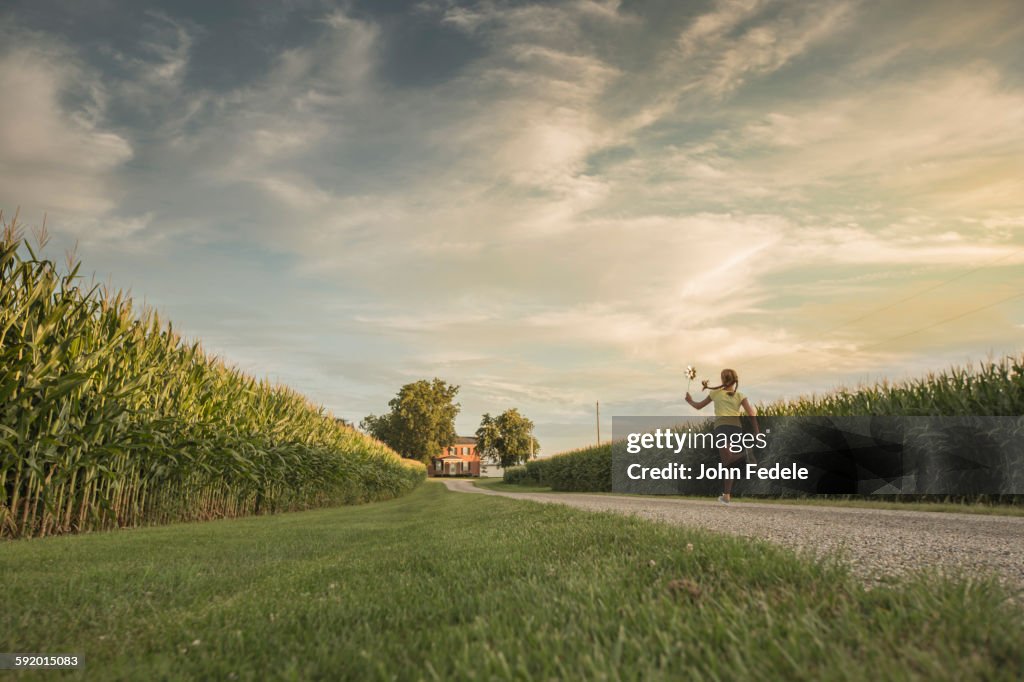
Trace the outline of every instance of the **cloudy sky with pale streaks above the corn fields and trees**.
[[[336, 415], [551, 454], [1021, 350], [1019, 0], [0, 9], [0, 208]], [[903, 300], [906, 299], [906, 300]]]

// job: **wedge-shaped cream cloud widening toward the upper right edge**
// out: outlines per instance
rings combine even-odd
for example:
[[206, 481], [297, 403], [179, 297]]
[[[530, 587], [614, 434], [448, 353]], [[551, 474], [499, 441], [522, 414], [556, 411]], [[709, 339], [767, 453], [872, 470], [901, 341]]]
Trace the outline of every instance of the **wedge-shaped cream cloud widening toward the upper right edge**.
[[864, 217], [873, 203], [890, 220], [909, 210], [1012, 220], [1024, 210], [1024, 93], [991, 65], [739, 112], [707, 138], [635, 158], [603, 180], [636, 187], [634, 202], [636, 191], [677, 198], [684, 211], [727, 202], [819, 211], [824, 200], [831, 220], [844, 195], [839, 210]]

